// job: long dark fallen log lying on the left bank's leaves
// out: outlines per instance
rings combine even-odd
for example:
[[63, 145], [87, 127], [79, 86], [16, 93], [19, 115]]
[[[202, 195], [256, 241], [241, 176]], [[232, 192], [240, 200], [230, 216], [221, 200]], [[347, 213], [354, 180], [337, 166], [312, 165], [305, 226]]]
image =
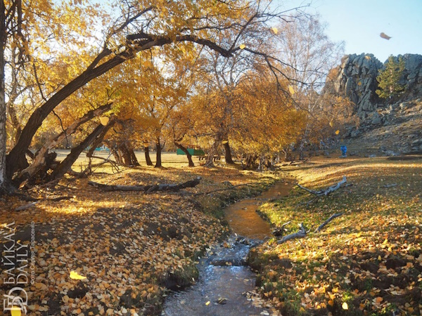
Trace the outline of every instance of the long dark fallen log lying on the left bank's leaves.
[[196, 187], [196, 185], [200, 182], [200, 177], [196, 178], [195, 180], [188, 180], [184, 183], [162, 183], [162, 184], [155, 184], [155, 185], [105, 185], [102, 183], [96, 183], [94, 181], [89, 181], [88, 184], [96, 187], [100, 190], [104, 191], [137, 191], [137, 192], [145, 192], [146, 194], [151, 192], [177, 192], [181, 189], [185, 189], [186, 187]]

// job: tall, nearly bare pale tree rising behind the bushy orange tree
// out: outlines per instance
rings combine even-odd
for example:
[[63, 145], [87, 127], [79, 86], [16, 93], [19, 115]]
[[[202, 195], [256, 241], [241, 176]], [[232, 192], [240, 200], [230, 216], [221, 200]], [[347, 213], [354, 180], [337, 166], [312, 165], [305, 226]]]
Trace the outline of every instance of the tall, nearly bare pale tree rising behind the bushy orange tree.
[[[307, 127], [295, 141], [300, 159], [303, 151], [315, 135], [312, 123], [319, 111], [319, 92], [326, 81], [326, 76], [343, 55], [344, 43], [335, 43], [325, 34], [326, 25], [318, 16], [298, 18], [292, 23], [283, 22], [278, 27], [279, 55], [292, 67], [285, 73], [290, 79], [288, 92], [295, 100], [295, 106], [306, 110], [309, 114]], [[284, 149], [289, 155], [291, 146]]]

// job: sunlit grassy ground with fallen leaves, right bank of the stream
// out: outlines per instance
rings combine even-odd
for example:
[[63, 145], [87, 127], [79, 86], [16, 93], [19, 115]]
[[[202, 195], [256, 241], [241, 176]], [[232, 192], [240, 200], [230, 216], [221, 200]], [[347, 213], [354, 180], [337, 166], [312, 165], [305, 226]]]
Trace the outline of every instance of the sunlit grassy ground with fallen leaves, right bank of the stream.
[[[315, 200], [295, 187], [260, 208], [274, 225], [291, 222], [286, 235], [310, 230], [250, 253], [262, 295], [283, 315], [422, 315], [422, 160], [316, 159], [284, 171], [315, 190], [343, 176], [352, 185]], [[344, 214], [314, 233], [333, 213]]]

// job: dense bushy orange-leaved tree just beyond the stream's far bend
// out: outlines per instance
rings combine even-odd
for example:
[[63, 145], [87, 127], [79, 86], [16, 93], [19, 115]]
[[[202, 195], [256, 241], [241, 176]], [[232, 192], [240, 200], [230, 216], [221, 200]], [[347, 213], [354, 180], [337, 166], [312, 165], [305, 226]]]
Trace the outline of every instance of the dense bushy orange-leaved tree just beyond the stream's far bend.
[[[280, 86], [281, 85], [281, 89]], [[243, 154], [245, 167], [271, 167], [274, 157], [293, 143], [305, 128], [305, 111], [296, 109], [286, 96], [288, 81], [268, 72], [250, 72], [241, 82], [238, 93], [243, 96], [238, 129], [232, 136], [233, 147]]]

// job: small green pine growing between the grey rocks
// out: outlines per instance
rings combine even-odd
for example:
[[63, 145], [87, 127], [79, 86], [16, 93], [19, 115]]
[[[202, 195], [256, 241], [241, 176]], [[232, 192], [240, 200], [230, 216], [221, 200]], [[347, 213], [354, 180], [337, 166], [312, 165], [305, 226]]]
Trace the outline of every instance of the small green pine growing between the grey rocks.
[[380, 70], [378, 77], [376, 77], [376, 80], [378, 81], [378, 90], [376, 91], [376, 94], [378, 94], [380, 98], [392, 98], [404, 91], [404, 86], [399, 84], [403, 70], [403, 58], [399, 57], [399, 60], [395, 61], [392, 55], [390, 55], [388, 62], [385, 64], [385, 69]]

